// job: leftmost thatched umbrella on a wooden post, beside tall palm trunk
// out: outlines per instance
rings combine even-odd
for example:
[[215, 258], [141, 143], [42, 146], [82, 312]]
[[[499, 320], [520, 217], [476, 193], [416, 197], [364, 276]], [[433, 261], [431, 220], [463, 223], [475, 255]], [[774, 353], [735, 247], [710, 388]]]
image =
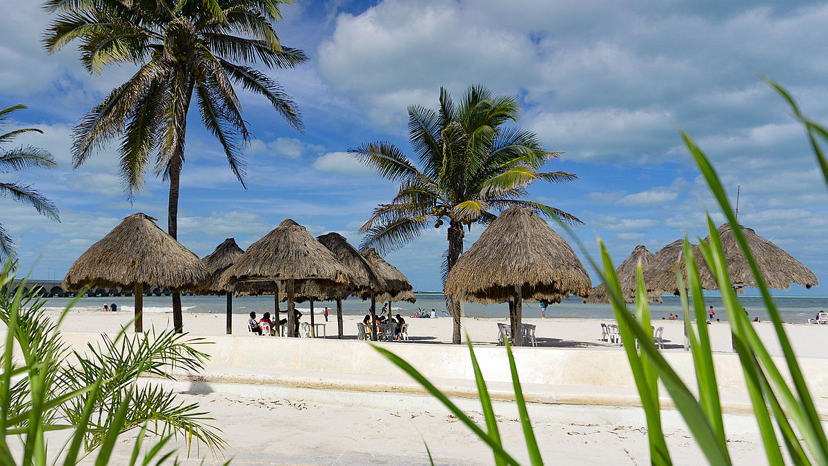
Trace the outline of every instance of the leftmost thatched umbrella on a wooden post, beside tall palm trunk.
[[69, 290], [87, 284], [134, 289], [136, 333], [143, 332], [144, 287], [199, 289], [209, 276], [199, 257], [161, 230], [155, 220], [143, 213], [123, 219], [75, 260], [63, 280]]

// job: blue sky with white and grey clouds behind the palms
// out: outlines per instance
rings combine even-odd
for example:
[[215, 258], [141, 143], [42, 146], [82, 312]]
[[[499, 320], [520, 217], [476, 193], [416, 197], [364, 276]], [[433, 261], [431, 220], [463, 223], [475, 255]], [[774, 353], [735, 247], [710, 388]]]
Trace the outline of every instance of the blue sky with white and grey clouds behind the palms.
[[[23, 269], [60, 279], [132, 212], [166, 229], [167, 187], [148, 177], [130, 205], [112, 149], [71, 169], [72, 127], [133, 70], [91, 76], [74, 46], [46, 54], [39, 37], [49, 17], [39, 2], [0, 2], [0, 108], [27, 104], [10, 128], [44, 130], [17, 142], [50, 150], [60, 168], [21, 179], [54, 199], [62, 220], [0, 198], [0, 222], [19, 240]], [[334, 0], [300, 1], [283, 14], [282, 43], [311, 60], [268, 73], [299, 104], [306, 130], [290, 129], [267, 102], [242, 93], [257, 138], [245, 153], [244, 190], [199, 115], [190, 115], [179, 240], [197, 255], [231, 236], [247, 247], [286, 217], [314, 235], [339, 231], [359, 244], [359, 226], [395, 186], [345, 152], [377, 139], [410, 152], [407, 105], [436, 107], [441, 85], [460, 95], [479, 83], [516, 95], [520, 126], [565, 152], [548, 168], [580, 179], [530, 193], [585, 221], [575, 234], [590, 254], [597, 236], [618, 262], [638, 244], [657, 252], [685, 233], [704, 236], [703, 206], [720, 223], [681, 128], [734, 198], [741, 186], [739, 220], [828, 279], [826, 187], [802, 128], [760, 79], [787, 86], [806, 114], [828, 122], [826, 2]], [[387, 259], [416, 289], [440, 289], [445, 233], [427, 231]], [[478, 235], [469, 232], [466, 246]], [[794, 285], [787, 294], [828, 293]]]

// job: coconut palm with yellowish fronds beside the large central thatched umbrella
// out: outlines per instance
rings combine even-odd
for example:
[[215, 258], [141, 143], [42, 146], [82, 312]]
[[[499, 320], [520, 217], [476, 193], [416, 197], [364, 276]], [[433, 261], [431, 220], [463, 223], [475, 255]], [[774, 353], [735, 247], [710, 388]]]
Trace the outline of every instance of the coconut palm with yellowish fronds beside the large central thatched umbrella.
[[[488, 224], [493, 210], [526, 206], [552, 218], [580, 223], [565, 211], [527, 201], [527, 187], [538, 180], [568, 182], [567, 172], [541, 172], [560, 153], [544, 150], [534, 133], [518, 129], [520, 105], [510, 96], [493, 96], [474, 85], [455, 104], [440, 89], [440, 110], [408, 107], [408, 138], [420, 166], [391, 143], [378, 141], [350, 149], [354, 157], [392, 182], [401, 182], [397, 196], [373, 211], [360, 232], [363, 247], [384, 254], [416, 239], [423, 231], [449, 222], [443, 279], [463, 252], [464, 226]], [[454, 318], [455, 343], [460, 343], [460, 303], [446, 297]]]

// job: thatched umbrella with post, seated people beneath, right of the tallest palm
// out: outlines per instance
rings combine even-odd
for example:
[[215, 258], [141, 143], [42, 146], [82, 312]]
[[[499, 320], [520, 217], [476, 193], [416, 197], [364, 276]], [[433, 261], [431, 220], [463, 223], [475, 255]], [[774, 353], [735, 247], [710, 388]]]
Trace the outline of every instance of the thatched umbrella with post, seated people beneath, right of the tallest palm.
[[[233, 289], [270, 288], [278, 302], [278, 287], [286, 287], [287, 328], [296, 336], [296, 286], [315, 282], [321, 287], [348, 286], [353, 274], [335, 255], [308, 233], [286, 219], [261, 240], [250, 245], [235, 264], [221, 275], [219, 285]], [[277, 316], [278, 319], [278, 316]], [[278, 325], [278, 320], [276, 325]]]

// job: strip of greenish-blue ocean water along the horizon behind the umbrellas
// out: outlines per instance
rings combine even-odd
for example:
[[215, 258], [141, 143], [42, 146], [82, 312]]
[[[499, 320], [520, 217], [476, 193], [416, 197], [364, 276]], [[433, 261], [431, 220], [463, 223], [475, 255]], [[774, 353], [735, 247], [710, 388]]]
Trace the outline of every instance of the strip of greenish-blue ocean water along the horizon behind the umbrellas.
[[[433, 308], [436, 309], [438, 317], [445, 317], [447, 315], [445, 313], [445, 300], [442, 294], [418, 293], [416, 294], [416, 299], [416, 303], [392, 303], [394, 313], [400, 313], [402, 316], [410, 316], [417, 309], [431, 310]], [[663, 299], [664, 303], [651, 304], [650, 311], [653, 318], [667, 317], [670, 313], [681, 313], [681, 303], [677, 296], [664, 296]], [[49, 298], [47, 299], [46, 308], [53, 310], [63, 309], [70, 300], [69, 298]], [[762, 320], [768, 318], [768, 313], [765, 311], [761, 298], [740, 296], [739, 300], [751, 317], [756, 316]], [[120, 311], [132, 312], [133, 310], [132, 297], [84, 297], [79, 299], [75, 308], [79, 310], [101, 310], [103, 309], [103, 304], [109, 303], [117, 303]], [[828, 297], [786, 296], [776, 298], [776, 304], [782, 315], [782, 320], [785, 322], [806, 323], [808, 318], [813, 317], [820, 310], [828, 310]], [[171, 312], [172, 299], [170, 296], [145, 296], [143, 305], [145, 313], [168, 313]], [[224, 296], [182, 296], [181, 305], [185, 309], [185, 313], [224, 313], [226, 298]], [[370, 302], [352, 298], [345, 300], [342, 305], [344, 313], [362, 315], [368, 311]], [[724, 314], [721, 298], [719, 296], [705, 297], [705, 308], [711, 305], [714, 311], [717, 312], [716, 317], [722, 321], [726, 321], [727, 316]], [[336, 313], [336, 303], [330, 301], [315, 303], [315, 313], [322, 313], [322, 309], [325, 306], [329, 308], [330, 313]], [[633, 309], [632, 305], [630, 306]], [[287, 305], [286, 303], [281, 303], [279, 307], [284, 312]], [[302, 313], [306, 313], [310, 310], [310, 305], [309, 303], [296, 304], [296, 308]], [[377, 308], [378, 310], [382, 308], [382, 303], [378, 303]], [[477, 303], [464, 303], [463, 309], [467, 317], [508, 316], [508, 305], [506, 303], [485, 306]], [[250, 311], [256, 311], [256, 313], [261, 315], [265, 311], [272, 310], [273, 297], [271, 295], [233, 298], [234, 314], [244, 315], [250, 313]], [[523, 303], [522, 311], [523, 317], [541, 317], [541, 308], [537, 303]], [[609, 304], [583, 303], [580, 298], [565, 299], [561, 303], [551, 304], [549, 308], [546, 308], [546, 317], [614, 318], [613, 310]]]

